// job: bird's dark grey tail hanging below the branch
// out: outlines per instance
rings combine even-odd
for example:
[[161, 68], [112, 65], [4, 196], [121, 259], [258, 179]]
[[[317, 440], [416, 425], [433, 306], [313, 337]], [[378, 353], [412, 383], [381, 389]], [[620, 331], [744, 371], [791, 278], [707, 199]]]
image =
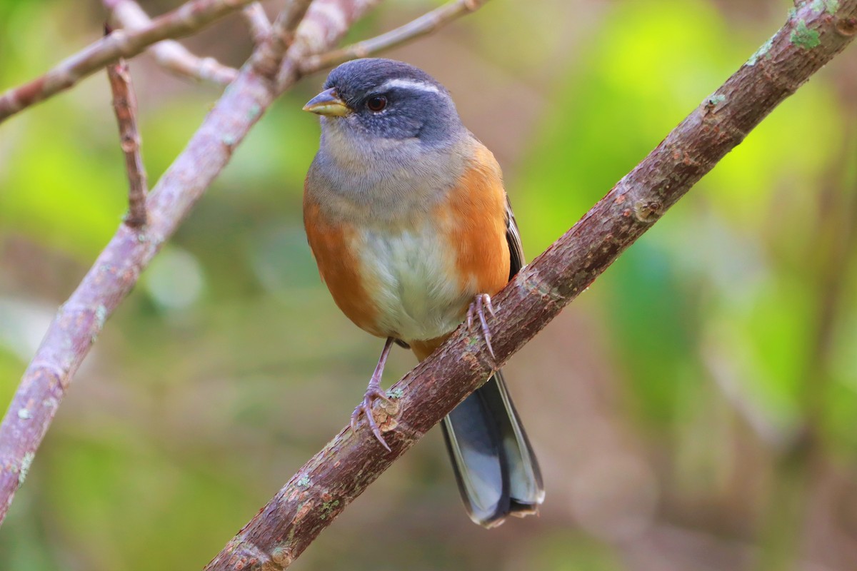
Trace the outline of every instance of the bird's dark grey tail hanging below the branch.
[[542, 473], [499, 371], [443, 419], [443, 436], [471, 520], [538, 512]]

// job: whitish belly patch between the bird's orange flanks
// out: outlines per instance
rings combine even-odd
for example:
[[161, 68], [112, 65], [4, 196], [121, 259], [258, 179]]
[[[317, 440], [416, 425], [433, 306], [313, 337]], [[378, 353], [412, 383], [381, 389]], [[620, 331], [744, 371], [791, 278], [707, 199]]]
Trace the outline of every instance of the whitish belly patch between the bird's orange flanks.
[[464, 319], [476, 292], [475, 279], [456, 279], [455, 248], [444, 243], [430, 223], [422, 228], [391, 232], [363, 229], [361, 275], [377, 307], [383, 335], [405, 342], [446, 335]]

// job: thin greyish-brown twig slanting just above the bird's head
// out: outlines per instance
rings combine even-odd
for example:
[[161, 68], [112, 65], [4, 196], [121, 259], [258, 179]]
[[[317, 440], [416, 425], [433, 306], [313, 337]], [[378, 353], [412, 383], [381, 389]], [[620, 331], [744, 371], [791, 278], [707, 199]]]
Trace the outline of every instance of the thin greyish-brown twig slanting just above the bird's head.
[[356, 57], [369, 57], [379, 51], [388, 50], [397, 45], [417, 39], [457, 18], [482, 8], [488, 0], [452, 0], [440, 8], [428, 12], [405, 26], [397, 27], [375, 38], [364, 39], [357, 44], [346, 45], [339, 50], [328, 51], [320, 56], [308, 57], [301, 62], [301, 73], [312, 74], [320, 69], [333, 68], [339, 63]]

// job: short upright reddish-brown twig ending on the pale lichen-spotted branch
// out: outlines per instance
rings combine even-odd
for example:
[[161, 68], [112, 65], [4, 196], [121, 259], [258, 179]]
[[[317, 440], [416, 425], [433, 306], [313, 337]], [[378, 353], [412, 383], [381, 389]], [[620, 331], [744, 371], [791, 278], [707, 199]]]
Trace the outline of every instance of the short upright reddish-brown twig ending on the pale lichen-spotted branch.
[[137, 129], [137, 98], [131, 83], [128, 63], [119, 58], [107, 66], [107, 78], [113, 93], [113, 110], [119, 124], [119, 140], [125, 154], [128, 171], [128, 216], [125, 223], [131, 228], [146, 225], [146, 167], [140, 152], [140, 131]]

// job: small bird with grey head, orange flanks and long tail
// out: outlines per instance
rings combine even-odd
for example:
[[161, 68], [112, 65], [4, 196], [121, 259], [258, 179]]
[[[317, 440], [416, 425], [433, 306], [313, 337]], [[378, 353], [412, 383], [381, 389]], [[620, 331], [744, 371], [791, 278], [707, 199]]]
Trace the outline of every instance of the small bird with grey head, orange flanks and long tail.
[[[321, 279], [339, 309], [386, 339], [361, 419], [389, 400], [381, 375], [393, 344], [424, 360], [465, 320], [494, 353], [491, 296], [524, 265], [500, 165], [464, 127], [446, 87], [384, 58], [345, 62], [303, 106], [320, 117], [304, 183], [303, 221]], [[470, 519], [485, 527], [536, 514], [542, 473], [500, 371], [442, 422]]]

